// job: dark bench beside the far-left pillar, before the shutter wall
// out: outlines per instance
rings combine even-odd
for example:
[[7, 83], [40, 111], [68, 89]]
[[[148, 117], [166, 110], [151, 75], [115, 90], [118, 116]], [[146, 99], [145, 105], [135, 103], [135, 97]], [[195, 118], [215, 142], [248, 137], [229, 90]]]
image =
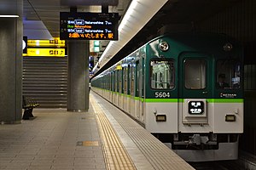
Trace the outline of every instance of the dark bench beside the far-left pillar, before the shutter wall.
[[38, 107], [38, 102], [36, 102], [32, 98], [26, 98], [25, 96], [22, 96], [22, 109], [24, 109], [24, 113], [22, 116], [23, 120], [29, 120], [33, 119], [34, 116], [32, 114], [32, 111], [35, 107]]

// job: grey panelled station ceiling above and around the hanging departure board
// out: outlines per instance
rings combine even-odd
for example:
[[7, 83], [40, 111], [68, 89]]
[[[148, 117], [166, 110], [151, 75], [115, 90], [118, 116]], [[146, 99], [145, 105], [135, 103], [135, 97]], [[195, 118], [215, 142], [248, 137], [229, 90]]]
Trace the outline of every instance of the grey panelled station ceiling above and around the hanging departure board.
[[[28, 38], [30, 39], [36, 38], [33, 33], [38, 37], [42, 31], [44, 33], [42, 37], [49, 37], [45, 29], [49, 31], [51, 37], [59, 37], [60, 12], [69, 12], [71, 7], [77, 7], [78, 12], [100, 13], [102, 11], [101, 4], [106, 5], [107, 3], [109, 4], [109, 13], [119, 13], [122, 16], [131, 0], [23, 0], [24, 31], [29, 34]], [[31, 21], [35, 22], [34, 26]], [[40, 24], [38, 21], [42, 21], [45, 27], [38, 26]], [[107, 44], [108, 41], [102, 41], [102, 51]]]

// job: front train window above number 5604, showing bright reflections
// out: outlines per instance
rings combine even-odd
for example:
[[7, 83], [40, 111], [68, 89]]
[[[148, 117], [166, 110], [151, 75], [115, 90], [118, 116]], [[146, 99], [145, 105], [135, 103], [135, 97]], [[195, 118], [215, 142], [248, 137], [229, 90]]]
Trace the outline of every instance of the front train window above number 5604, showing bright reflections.
[[150, 61], [151, 88], [174, 88], [174, 75], [174, 63], [172, 60], [153, 59]]

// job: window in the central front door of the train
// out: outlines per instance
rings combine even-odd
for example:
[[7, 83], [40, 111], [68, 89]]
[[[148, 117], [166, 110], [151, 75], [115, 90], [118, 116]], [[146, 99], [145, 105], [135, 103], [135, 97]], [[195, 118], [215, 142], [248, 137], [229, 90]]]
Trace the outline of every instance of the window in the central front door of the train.
[[207, 63], [205, 59], [184, 60], [184, 82], [185, 88], [203, 89], [206, 88]]

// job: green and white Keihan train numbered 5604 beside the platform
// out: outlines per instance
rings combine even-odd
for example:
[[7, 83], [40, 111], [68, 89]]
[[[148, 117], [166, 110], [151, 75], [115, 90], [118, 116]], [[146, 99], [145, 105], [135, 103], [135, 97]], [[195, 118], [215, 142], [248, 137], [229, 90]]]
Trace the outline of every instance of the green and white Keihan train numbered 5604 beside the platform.
[[93, 77], [91, 89], [185, 161], [238, 159], [243, 48], [217, 33], [155, 37]]

